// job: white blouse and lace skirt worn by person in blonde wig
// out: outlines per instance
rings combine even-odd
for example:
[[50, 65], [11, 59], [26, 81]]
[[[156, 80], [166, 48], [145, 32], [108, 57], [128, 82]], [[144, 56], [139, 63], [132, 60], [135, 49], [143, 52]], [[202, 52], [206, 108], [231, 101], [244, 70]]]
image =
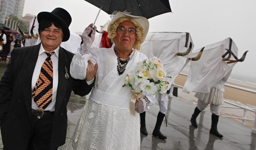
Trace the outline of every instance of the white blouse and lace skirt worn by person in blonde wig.
[[[135, 70], [136, 63], [147, 57], [133, 50], [125, 72], [119, 75], [113, 47], [91, 48], [90, 54], [81, 56], [77, 52], [73, 57], [70, 65], [73, 78], [85, 78], [89, 59], [93, 64], [98, 63], [98, 70], [89, 101], [67, 149], [140, 149], [140, 115], [130, 114], [131, 87], [122, 85], [126, 73]], [[154, 96], [149, 100], [154, 103]]]

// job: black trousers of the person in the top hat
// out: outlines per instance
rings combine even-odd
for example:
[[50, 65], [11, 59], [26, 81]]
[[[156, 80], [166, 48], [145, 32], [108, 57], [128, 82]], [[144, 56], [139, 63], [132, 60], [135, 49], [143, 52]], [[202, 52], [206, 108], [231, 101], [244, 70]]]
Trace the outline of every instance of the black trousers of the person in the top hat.
[[[41, 117], [31, 117], [31, 132], [27, 150], [52, 150], [51, 132], [54, 122], [54, 114]], [[53, 148], [53, 149], [58, 149]]]

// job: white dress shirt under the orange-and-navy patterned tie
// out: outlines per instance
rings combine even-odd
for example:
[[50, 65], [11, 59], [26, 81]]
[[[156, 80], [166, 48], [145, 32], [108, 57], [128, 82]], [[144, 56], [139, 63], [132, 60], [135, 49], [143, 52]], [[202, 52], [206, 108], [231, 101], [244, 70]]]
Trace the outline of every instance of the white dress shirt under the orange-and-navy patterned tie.
[[[58, 47], [57, 49], [54, 50], [54, 53], [51, 55], [51, 62], [52, 62], [52, 67], [53, 67], [53, 85], [52, 85], [52, 101], [51, 103], [44, 109], [44, 111], [55, 111], [55, 103], [56, 103], [56, 95], [57, 95], [57, 88], [58, 88], [58, 61], [59, 61], [59, 49], [60, 47]], [[41, 47], [39, 49], [39, 53], [38, 53], [38, 58], [36, 61], [36, 66], [33, 72], [33, 76], [32, 76], [32, 84], [31, 84], [31, 93], [35, 87], [35, 84], [37, 82], [38, 76], [40, 74], [41, 71], [41, 67], [42, 64], [45, 62], [45, 59], [47, 58], [46, 53], [47, 51], [45, 51], [45, 49], [43, 48], [42, 44]], [[51, 51], [53, 52], [53, 51]], [[91, 85], [94, 81], [94, 78], [90, 81], [87, 81], [88, 85]], [[34, 102], [34, 98], [32, 97], [32, 109], [34, 110], [40, 110], [39, 107], [36, 105], [36, 103]]]

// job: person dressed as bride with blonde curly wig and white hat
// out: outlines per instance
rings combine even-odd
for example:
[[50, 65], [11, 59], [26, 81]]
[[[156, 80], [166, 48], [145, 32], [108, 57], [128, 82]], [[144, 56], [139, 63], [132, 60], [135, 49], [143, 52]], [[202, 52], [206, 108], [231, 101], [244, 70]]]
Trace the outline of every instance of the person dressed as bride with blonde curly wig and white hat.
[[95, 29], [92, 38], [87, 36], [92, 29], [91, 24], [83, 32], [84, 43], [70, 65], [71, 76], [77, 79], [85, 78], [84, 68], [87, 65], [97, 63], [98, 71], [89, 101], [83, 108], [67, 149], [140, 149], [139, 113], [148, 109], [155, 102], [155, 97], [136, 101], [133, 116], [129, 111], [131, 87], [122, 85], [125, 84], [126, 73], [134, 71], [137, 62], [147, 59], [136, 50], [140, 50], [145, 40], [149, 22], [144, 17], [121, 12], [111, 15], [111, 19], [108, 37], [113, 46], [90, 48], [95, 36]]

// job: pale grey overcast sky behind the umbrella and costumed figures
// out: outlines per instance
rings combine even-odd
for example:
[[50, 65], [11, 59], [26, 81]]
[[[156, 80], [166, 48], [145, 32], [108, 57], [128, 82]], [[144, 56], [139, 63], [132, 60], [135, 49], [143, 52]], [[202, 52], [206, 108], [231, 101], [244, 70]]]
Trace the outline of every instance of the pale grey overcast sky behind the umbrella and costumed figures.
[[[105, 0], [106, 1], [106, 0]], [[255, 0], [170, 0], [173, 13], [149, 19], [149, 32], [189, 32], [194, 49], [222, 41], [228, 37], [238, 47], [238, 57], [249, 50], [244, 62], [238, 62], [231, 77], [256, 83], [256, 1]], [[25, 0], [23, 16], [37, 15], [41, 11], [51, 12], [54, 8], [66, 9], [72, 22], [71, 32], [82, 32], [94, 22], [99, 8], [84, 0]], [[110, 20], [101, 11], [96, 26]]]

